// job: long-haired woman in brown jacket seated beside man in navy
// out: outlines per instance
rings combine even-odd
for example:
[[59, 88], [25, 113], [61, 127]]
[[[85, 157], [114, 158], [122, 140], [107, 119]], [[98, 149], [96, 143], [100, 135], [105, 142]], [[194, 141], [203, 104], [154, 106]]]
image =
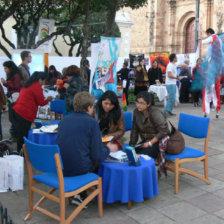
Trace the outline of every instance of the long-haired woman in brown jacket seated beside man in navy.
[[122, 137], [125, 132], [124, 117], [121, 111], [117, 95], [106, 91], [96, 104], [96, 118], [103, 136], [114, 136], [112, 143], [117, 149], [123, 147]]

